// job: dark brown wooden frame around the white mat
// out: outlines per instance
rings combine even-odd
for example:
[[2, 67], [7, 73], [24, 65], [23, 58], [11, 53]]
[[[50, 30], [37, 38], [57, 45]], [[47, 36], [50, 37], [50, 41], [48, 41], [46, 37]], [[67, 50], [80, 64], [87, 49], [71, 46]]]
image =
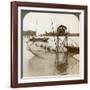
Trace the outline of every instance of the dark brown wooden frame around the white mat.
[[[82, 80], [65, 80], [65, 81], [43, 81], [43, 82], [27, 82], [18, 83], [18, 7], [35, 7], [35, 8], [52, 8], [52, 9], [72, 9], [82, 10], [84, 12], [84, 79]], [[67, 5], [52, 3], [34, 3], [34, 2], [11, 2], [11, 87], [36, 87], [36, 86], [53, 86], [67, 84], [83, 84], [88, 82], [87, 71], [87, 6], [83, 5]]]

